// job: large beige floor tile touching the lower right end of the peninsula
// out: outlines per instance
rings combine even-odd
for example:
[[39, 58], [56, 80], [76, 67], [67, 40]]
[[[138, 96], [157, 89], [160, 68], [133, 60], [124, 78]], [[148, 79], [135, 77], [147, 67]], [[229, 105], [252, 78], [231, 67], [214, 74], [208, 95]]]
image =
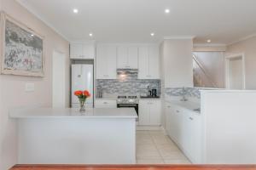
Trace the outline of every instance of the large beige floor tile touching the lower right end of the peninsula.
[[160, 159], [160, 153], [154, 144], [137, 144], [137, 159]]

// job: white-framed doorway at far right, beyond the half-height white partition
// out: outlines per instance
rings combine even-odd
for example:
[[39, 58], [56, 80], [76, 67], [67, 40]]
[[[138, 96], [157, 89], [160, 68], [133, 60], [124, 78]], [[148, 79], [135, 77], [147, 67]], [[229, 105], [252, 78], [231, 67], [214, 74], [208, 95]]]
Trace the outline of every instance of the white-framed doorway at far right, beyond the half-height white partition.
[[245, 89], [245, 62], [244, 54], [234, 54], [225, 58], [226, 88]]

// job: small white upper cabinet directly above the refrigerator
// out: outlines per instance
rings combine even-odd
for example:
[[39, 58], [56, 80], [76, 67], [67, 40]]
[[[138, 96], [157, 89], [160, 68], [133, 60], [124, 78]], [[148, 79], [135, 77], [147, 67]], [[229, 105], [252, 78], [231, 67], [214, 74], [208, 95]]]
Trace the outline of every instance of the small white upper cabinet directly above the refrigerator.
[[70, 59], [95, 59], [94, 42], [71, 42]]

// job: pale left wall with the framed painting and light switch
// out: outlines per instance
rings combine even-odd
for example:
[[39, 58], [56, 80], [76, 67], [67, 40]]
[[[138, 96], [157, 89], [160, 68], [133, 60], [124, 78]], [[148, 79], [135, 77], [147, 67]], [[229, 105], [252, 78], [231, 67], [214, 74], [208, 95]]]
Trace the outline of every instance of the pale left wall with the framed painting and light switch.
[[[1, 5], [2, 4], [2, 5]], [[0, 8], [7, 14], [39, 32], [45, 40], [45, 77], [18, 77], [0, 75], [0, 169], [6, 170], [17, 161], [17, 138], [15, 121], [9, 119], [10, 108], [28, 105], [51, 106], [52, 101], [52, 54], [54, 50], [68, 56], [68, 42], [55, 31], [21, 7], [15, 0], [0, 0]], [[0, 36], [2, 38], [2, 35]], [[2, 47], [2, 44], [0, 44]], [[0, 51], [0, 54], [2, 51]], [[66, 95], [69, 94], [69, 59], [66, 69]], [[26, 82], [35, 84], [35, 91], [25, 92]], [[68, 105], [68, 97], [66, 105]]]

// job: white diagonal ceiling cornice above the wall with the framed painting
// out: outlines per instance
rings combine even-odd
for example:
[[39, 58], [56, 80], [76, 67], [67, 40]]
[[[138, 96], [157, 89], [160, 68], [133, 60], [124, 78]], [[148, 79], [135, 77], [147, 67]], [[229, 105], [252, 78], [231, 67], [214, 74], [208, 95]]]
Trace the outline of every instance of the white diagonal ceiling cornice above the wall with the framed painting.
[[31, 5], [26, 3], [26, 1], [24, 1], [24, 0], [15, 0], [15, 1], [17, 3], [20, 3], [20, 5], [24, 8], [26, 8], [26, 10], [28, 10], [30, 13], [34, 14], [39, 20], [42, 20], [46, 26], [49, 26], [49, 28], [51, 28], [53, 31], [55, 31], [57, 34], [59, 34], [61, 37], [63, 37], [65, 40], [67, 40], [67, 42], [70, 42], [69, 39], [61, 33], [61, 31], [58, 31], [54, 26], [49, 24], [49, 22], [47, 22], [44, 19], [44, 17], [42, 17], [40, 14], [38, 14], [38, 12], [34, 8], [32, 8]]

